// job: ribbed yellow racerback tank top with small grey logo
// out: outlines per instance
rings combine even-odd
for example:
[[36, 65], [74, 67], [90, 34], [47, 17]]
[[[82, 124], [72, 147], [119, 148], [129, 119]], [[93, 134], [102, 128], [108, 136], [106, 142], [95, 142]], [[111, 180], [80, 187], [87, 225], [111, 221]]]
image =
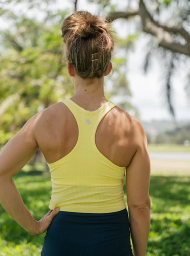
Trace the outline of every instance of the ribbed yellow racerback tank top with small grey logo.
[[111, 213], [126, 208], [120, 167], [97, 149], [95, 133], [101, 119], [116, 104], [108, 101], [95, 111], [85, 110], [73, 100], [62, 101], [74, 115], [79, 129], [75, 147], [68, 155], [47, 163], [52, 194], [49, 209], [78, 213]]

